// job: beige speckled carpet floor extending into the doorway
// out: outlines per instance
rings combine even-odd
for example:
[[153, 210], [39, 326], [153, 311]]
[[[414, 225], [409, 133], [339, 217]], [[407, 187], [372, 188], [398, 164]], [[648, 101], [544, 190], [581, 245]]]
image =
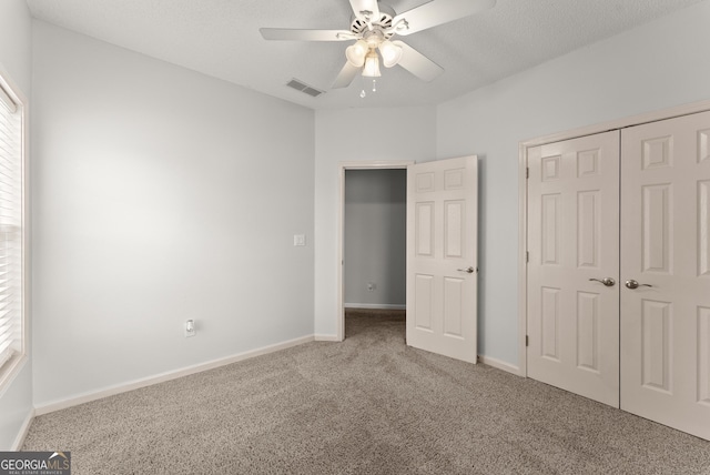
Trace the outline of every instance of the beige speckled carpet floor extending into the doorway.
[[402, 313], [37, 417], [73, 474], [710, 474], [710, 443], [407, 347]]

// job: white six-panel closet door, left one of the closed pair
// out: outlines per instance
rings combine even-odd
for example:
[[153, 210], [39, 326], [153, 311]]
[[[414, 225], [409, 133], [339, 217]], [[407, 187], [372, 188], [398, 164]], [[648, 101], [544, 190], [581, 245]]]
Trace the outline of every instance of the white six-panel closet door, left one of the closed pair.
[[528, 376], [619, 406], [619, 132], [528, 150]]

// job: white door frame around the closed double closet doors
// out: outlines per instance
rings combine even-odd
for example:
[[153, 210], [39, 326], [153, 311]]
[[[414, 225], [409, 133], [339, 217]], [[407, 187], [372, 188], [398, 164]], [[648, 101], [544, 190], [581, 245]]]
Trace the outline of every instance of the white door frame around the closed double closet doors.
[[[551, 135], [539, 137], [537, 139], [520, 142], [518, 148], [518, 374], [527, 376], [528, 361], [526, 350], [527, 335], [527, 302], [528, 302], [528, 276], [527, 276], [527, 240], [528, 240], [528, 183], [527, 183], [527, 155], [528, 149], [544, 145], [546, 143], [560, 142], [562, 140], [577, 139], [579, 137], [592, 135], [609, 130], [623, 129], [627, 127], [640, 125], [643, 123], [672, 119], [680, 115], [704, 112], [710, 110], [710, 100], [694, 102], [691, 104], [678, 105], [660, 111], [648, 112], [639, 115], [628, 117], [615, 121], [602, 122]], [[623, 158], [621, 158], [623, 160]]]

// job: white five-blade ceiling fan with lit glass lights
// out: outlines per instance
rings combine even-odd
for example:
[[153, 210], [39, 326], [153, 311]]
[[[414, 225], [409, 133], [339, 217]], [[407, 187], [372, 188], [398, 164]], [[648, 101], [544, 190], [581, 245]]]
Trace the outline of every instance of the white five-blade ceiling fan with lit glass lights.
[[420, 80], [429, 82], [444, 72], [444, 69], [404, 41], [393, 38], [448, 23], [496, 4], [496, 0], [432, 0], [397, 14], [390, 7], [378, 4], [377, 0], [349, 2], [354, 14], [349, 30], [261, 28], [260, 31], [266, 40], [355, 40], [354, 44], [345, 49], [347, 61], [335, 79], [333, 89], [348, 87], [358, 72], [364, 77], [378, 78], [381, 57], [385, 68], [399, 64]]

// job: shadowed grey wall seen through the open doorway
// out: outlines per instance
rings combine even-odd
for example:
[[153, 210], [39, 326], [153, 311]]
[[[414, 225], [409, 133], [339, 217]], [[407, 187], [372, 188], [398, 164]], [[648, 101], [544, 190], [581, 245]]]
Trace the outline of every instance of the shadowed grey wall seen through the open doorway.
[[404, 309], [407, 171], [346, 170], [344, 231], [345, 305]]

